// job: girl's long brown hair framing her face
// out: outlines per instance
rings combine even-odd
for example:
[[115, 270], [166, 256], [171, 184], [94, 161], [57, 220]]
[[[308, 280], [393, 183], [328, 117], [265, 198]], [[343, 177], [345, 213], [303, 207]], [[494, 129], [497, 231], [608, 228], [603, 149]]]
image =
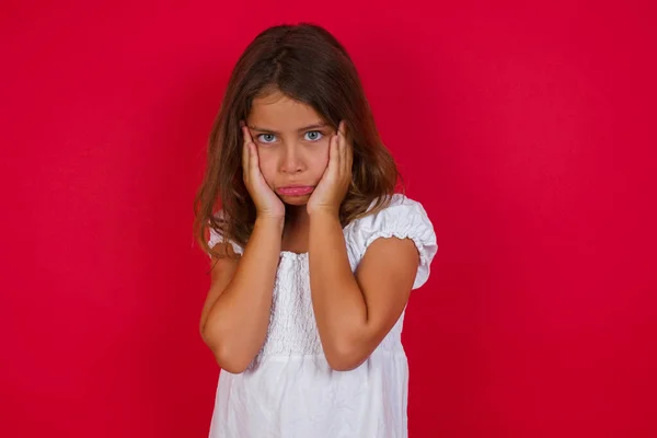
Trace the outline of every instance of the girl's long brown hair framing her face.
[[[394, 159], [381, 142], [342, 44], [313, 24], [269, 27], [238, 60], [209, 137], [207, 169], [194, 204], [194, 237], [211, 255], [224, 254], [208, 246], [208, 227], [241, 246], [253, 231], [256, 214], [242, 180], [240, 120], [247, 118], [254, 97], [272, 91], [312, 106], [333, 127], [345, 120], [354, 148], [354, 183], [341, 206], [343, 226], [383, 209], [396, 187]], [[219, 203], [221, 217], [216, 215]]]

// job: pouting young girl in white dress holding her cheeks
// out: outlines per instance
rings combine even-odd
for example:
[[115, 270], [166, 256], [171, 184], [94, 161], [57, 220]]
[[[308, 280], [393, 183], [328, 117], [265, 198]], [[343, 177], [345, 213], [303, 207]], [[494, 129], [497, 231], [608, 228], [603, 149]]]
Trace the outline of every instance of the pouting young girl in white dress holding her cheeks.
[[200, 333], [222, 368], [210, 437], [407, 436], [403, 315], [437, 244], [396, 182], [344, 47], [308, 24], [260, 34], [196, 198]]

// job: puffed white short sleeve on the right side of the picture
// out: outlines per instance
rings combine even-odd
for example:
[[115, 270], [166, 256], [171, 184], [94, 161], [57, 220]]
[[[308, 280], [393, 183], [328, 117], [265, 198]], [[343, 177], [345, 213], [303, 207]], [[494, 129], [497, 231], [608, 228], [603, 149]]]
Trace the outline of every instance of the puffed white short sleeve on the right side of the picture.
[[413, 289], [423, 286], [429, 278], [430, 265], [438, 252], [434, 226], [422, 204], [401, 194], [393, 195], [390, 206], [366, 216], [354, 223], [348, 239], [358, 260], [368, 246], [379, 238], [411, 239], [419, 253], [419, 265]]

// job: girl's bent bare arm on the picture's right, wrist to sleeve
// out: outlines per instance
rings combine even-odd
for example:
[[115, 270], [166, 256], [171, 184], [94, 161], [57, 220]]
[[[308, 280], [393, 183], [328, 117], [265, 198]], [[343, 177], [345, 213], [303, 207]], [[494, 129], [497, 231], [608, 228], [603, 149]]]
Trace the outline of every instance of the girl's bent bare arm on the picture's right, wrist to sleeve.
[[362, 364], [402, 314], [419, 264], [410, 239], [378, 239], [351, 273], [335, 214], [310, 216], [309, 267], [312, 303], [328, 365], [349, 370]]

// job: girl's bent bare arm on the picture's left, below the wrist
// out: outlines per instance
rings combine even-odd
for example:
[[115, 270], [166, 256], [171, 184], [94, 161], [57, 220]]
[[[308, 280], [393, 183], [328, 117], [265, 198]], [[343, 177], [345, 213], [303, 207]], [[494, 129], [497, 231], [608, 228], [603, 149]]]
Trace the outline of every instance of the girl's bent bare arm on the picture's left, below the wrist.
[[265, 342], [283, 226], [283, 218], [258, 217], [239, 261], [212, 258], [200, 334], [226, 371], [243, 372]]

